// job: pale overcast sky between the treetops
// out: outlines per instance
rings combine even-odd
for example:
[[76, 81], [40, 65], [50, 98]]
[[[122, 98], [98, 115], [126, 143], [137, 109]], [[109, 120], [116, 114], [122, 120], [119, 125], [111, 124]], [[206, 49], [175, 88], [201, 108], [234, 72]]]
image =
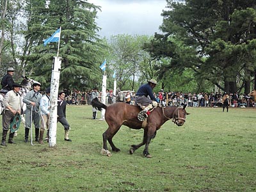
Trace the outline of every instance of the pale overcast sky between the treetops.
[[166, 0], [88, 0], [101, 6], [97, 13], [99, 35], [154, 35], [163, 22]]

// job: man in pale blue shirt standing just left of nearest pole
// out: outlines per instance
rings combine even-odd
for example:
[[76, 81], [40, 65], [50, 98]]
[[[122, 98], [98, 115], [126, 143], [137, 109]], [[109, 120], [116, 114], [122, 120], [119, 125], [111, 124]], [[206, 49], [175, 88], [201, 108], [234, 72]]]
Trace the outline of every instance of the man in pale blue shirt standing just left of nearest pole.
[[45, 90], [45, 95], [40, 100], [40, 109], [41, 109], [41, 126], [40, 126], [40, 136], [38, 143], [44, 145], [44, 131], [47, 129], [47, 138], [49, 138], [49, 127], [50, 127], [50, 94], [51, 87], [48, 87]]

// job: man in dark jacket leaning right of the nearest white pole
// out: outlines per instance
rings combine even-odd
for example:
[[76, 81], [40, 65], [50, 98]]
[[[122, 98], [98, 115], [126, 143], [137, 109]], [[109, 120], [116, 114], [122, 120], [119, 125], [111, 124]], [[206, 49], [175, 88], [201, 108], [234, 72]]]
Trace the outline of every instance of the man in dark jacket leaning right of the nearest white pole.
[[58, 97], [58, 108], [57, 108], [57, 122], [60, 122], [61, 125], [63, 125], [65, 129], [65, 141], [72, 141], [70, 138], [68, 138], [68, 134], [70, 131], [70, 125], [68, 124], [68, 121], [66, 119], [66, 105], [67, 102], [65, 101], [65, 92], [61, 91], [59, 92], [59, 97]]

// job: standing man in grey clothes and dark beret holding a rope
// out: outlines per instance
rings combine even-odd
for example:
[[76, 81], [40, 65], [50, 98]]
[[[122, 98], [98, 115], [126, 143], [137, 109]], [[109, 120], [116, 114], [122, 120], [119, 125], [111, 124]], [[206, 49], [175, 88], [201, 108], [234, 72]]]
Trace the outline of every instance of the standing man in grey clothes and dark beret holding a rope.
[[25, 124], [25, 143], [28, 143], [28, 134], [29, 129], [32, 127], [31, 123], [34, 122], [35, 125], [35, 141], [39, 141], [39, 127], [40, 127], [40, 114], [39, 106], [42, 94], [39, 93], [41, 84], [33, 83], [33, 90], [28, 92], [23, 99], [23, 102], [26, 103], [26, 124]]

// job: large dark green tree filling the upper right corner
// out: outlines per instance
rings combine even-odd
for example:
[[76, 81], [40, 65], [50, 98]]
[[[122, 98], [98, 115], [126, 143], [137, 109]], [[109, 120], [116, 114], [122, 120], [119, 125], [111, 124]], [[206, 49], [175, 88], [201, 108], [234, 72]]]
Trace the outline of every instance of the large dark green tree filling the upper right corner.
[[226, 92], [236, 92], [237, 77], [255, 66], [248, 60], [255, 47], [246, 49], [255, 38], [255, 1], [167, 3], [170, 10], [162, 14], [164, 34], [156, 34], [148, 50], [156, 58], [169, 58], [169, 70], [181, 73], [191, 68], [198, 83], [206, 79]]

